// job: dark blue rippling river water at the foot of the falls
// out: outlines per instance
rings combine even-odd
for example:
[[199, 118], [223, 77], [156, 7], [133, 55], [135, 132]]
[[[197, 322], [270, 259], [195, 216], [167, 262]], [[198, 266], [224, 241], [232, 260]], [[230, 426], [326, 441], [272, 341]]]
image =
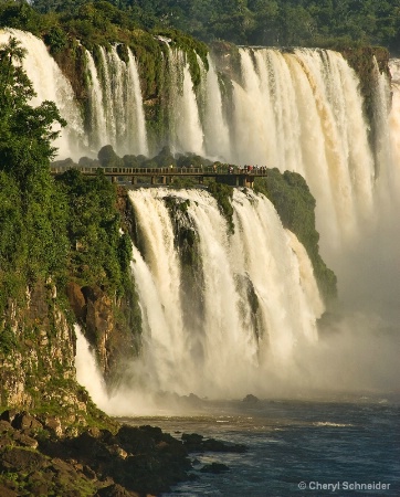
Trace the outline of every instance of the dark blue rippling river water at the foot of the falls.
[[[244, 454], [191, 454], [194, 482], [167, 496], [400, 495], [399, 396], [327, 400], [204, 401], [189, 415], [124, 417], [180, 438], [244, 444]], [[120, 419], [119, 419], [120, 420]], [[200, 473], [212, 462], [230, 470]]]

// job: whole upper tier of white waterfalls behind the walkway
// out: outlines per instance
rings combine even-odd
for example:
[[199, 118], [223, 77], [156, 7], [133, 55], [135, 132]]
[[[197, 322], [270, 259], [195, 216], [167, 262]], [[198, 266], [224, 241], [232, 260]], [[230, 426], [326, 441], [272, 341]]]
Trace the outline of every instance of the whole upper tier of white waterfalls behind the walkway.
[[[3, 36], [10, 33], [28, 47], [24, 64], [40, 97], [54, 99], [70, 128], [81, 133], [71, 86], [44, 44], [19, 31], [3, 32]], [[368, 142], [355, 72], [331, 51], [296, 49], [284, 53], [242, 47], [240, 74], [231, 81], [232, 91], [221, 92], [212, 56], [208, 72], [199, 59], [202, 81], [194, 91], [185, 53], [165, 43], [169, 123], [162, 136], [151, 136], [151, 142], [230, 163], [299, 172], [317, 199], [323, 253], [328, 262], [334, 261], [343, 246], [357, 237], [360, 223], [370, 220], [376, 171], [385, 169], [381, 162], [388, 161], [387, 127], [377, 126], [375, 138], [380, 146], [376, 157]], [[86, 52], [90, 151], [82, 144], [82, 155], [95, 156], [108, 144], [119, 156], [156, 154], [157, 148], [149, 150], [148, 146], [138, 67], [130, 49], [127, 63], [116, 46], [96, 50], [98, 67]], [[379, 72], [377, 88], [375, 107], [382, 119], [376, 115], [385, 124], [388, 82]], [[60, 157], [74, 155], [73, 144], [78, 142], [63, 138], [57, 144]]]

